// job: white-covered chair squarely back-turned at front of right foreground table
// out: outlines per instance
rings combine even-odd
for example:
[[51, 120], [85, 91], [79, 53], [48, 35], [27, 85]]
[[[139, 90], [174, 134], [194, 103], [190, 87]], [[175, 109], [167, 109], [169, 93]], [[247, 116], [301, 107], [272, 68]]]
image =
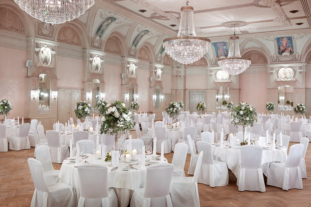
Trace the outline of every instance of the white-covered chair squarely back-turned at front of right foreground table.
[[236, 182], [239, 191], [266, 191], [261, 165], [261, 146], [246, 145], [241, 147], [241, 165]]

